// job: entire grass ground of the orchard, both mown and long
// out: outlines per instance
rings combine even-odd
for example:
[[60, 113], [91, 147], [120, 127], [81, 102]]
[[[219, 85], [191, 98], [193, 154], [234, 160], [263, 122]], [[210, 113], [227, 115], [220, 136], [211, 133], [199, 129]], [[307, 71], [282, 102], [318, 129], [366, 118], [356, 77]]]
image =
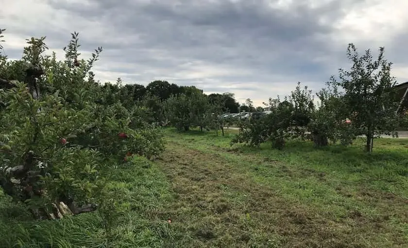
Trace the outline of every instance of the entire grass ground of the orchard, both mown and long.
[[[408, 247], [408, 140], [375, 140], [371, 155], [362, 141], [277, 151], [230, 147], [233, 132], [169, 129], [160, 159], [123, 165], [110, 186], [128, 211], [111, 247]], [[97, 213], [21, 213], [0, 193], [0, 247], [103, 247]]]

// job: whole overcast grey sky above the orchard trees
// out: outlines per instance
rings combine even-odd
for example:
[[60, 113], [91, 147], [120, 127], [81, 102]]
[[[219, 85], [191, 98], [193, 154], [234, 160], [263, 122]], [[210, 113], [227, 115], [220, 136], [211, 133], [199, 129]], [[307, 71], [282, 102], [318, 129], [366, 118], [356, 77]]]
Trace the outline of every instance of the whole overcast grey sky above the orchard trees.
[[346, 58], [384, 46], [393, 76], [408, 81], [407, 0], [0, 0], [4, 50], [47, 36], [62, 56], [80, 33], [83, 58], [102, 46], [101, 81], [161, 79], [260, 105], [298, 81], [319, 90]]

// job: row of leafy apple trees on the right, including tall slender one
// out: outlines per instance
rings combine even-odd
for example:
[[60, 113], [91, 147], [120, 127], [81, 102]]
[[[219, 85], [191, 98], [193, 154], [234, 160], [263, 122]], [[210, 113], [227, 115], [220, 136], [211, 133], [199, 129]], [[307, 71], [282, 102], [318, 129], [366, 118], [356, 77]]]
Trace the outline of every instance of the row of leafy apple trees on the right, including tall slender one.
[[[281, 149], [285, 139], [311, 139], [316, 146], [326, 146], [329, 140], [351, 144], [357, 136], [365, 135], [366, 149], [372, 151], [374, 135], [393, 134], [404, 125], [404, 116], [397, 113], [399, 100], [391, 63], [384, 59], [384, 48], [373, 59], [370, 50], [359, 56], [350, 44], [347, 56], [352, 62], [350, 71], [340, 69], [340, 81], [331, 77], [327, 88], [317, 93], [320, 106], [305, 86], [296, 89], [283, 102], [270, 98], [266, 105], [271, 114], [240, 124], [238, 136], [232, 143], [244, 142], [259, 146], [272, 141]], [[250, 109], [251, 101], [246, 106]], [[310, 133], [308, 135], [307, 133]]]

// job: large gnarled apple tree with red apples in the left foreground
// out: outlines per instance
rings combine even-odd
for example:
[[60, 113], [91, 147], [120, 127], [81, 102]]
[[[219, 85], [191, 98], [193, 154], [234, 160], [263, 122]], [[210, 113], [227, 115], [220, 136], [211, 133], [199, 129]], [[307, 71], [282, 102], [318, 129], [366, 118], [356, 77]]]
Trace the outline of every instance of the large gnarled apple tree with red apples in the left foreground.
[[39, 219], [97, 209], [115, 163], [164, 148], [140, 107], [106, 103], [90, 71], [102, 47], [81, 60], [71, 35], [64, 61], [43, 54], [45, 37], [27, 40], [20, 61], [0, 58], [0, 186]]

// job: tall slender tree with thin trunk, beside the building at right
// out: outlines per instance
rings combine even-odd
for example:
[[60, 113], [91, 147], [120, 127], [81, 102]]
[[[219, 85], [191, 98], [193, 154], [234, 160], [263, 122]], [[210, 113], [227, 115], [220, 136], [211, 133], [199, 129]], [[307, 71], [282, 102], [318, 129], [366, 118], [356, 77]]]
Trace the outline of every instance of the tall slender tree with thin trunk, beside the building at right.
[[384, 47], [379, 48], [378, 57], [374, 59], [370, 50], [359, 56], [357, 48], [349, 44], [347, 57], [352, 62], [351, 70], [340, 69], [340, 81], [332, 78], [329, 85], [341, 87], [344, 102], [341, 110], [348, 114], [355, 135], [366, 136], [366, 150], [371, 152], [374, 135], [391, 134], [399, 123], [392, 63], [384, 58]]

